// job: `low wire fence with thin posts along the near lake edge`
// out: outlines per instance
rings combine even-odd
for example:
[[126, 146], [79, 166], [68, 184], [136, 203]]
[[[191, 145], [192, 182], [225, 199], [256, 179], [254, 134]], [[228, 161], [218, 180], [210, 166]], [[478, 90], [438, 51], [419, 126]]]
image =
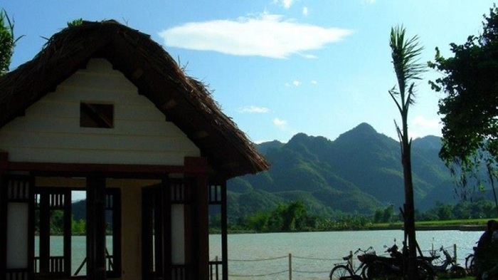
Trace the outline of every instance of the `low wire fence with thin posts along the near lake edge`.
[[[424, 250], [424, 256], [438, 255], [434, 264], [443, 261], [443, 252], [441, 247]], [[458, 252], [472, 252], [472, 248], [457, 247], [454, 244], [451, 247], [445, 247], [450, 252], [453, 259], [465, 268], [465, 258], [468, 254], [458, 254]], [[378, 254], [379, 256], [387, 254]], [[359, 266], [359, 261], [354, 257], [353, 252], [349, 252], [353, 268]], [[216, 258], [218, 259], [218, 258]], [[288, 254], [285, 256], [273, 256], [262, 259], [228, 259], [228, 276], [229, 279], [240, 280], [292, 280], [292, 279], [329, 279], [329, 273], [337, 264], [346, 264], [343, 258], [314, 258], [309, 256], [299, 256]]]

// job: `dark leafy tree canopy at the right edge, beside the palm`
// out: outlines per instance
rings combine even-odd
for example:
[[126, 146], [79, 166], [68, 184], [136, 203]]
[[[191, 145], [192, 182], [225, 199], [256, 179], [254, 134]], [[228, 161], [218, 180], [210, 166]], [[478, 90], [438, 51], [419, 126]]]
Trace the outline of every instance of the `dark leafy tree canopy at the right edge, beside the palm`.
[[498, 162], [498, 9], [484, 15], [483, 30], [468, 36], [461, 45], [450, 44], [452, 57], [444, 58], [436, 48], [429, 66], [443, 74], [430, 81], [440, 99], [443, 147], [440, 157], [459, 175], [460, 193], [466, 197], [467, 175], [487, 167], [493, 182]]

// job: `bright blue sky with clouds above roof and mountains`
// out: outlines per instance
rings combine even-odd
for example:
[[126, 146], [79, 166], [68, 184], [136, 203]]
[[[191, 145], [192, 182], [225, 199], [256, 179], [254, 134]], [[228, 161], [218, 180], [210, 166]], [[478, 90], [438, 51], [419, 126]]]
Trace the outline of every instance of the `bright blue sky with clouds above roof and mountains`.
[[[396, 85], [391, 26], [418, 35], [431, 61], [438, 46], [482, 30], [486, 0], [6, 0], [15, 21], [11, 69], [31, 60], [68, 21], [115, 19], [152, 36], [189, 76], [203, 81], [254, 142], [296, 133], [336, 139], [360, 123], [397, 139], [388, 90]], [[410, 137], [440, 136], [428, 70], [410, 108]]]

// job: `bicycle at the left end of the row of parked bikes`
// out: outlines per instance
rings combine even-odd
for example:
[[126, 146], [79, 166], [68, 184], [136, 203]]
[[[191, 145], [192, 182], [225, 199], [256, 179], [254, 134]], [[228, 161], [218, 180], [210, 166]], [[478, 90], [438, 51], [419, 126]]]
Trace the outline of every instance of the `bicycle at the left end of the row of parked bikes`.
[[[368, 266], [366, 266], [365, 263], [361, 261], [361, 264], [358, 266], [357, 269], [354, 269], [353, 267], [353, 256], [358, 254], [359, 252], [362, 252], [364, 254], [375, 254], [373, 248], [369, 247], [366, 250], [357, 249], [356, 252], [354, 252], [353, 254], [344, 256], [342, 259], [346, 261], [346, 263], [334, 264], [334, 268], [330, 271], [329, 279], [330, 280], [365, 279], [366, 269], [368, 269]], [[361, 258], [359, 257], [359, 259]], [[359, 271], [361, 271], [361, 274], [358, 274]]]

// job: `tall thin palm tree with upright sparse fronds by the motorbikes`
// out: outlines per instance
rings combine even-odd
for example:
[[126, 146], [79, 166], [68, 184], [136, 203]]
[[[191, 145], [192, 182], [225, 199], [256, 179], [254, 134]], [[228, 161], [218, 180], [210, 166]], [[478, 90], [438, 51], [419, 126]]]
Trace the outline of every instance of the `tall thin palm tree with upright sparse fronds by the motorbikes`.
[[405, 219], [405, 242], [408, 239], [408, 263], [407, 279], [417, 279], [416, 271], [416, 248], [418, 248], [415, 237], [415, 205], [413, 202], [413, 181], [411, 173], [411, 138], [408, 138], [408, 109], [415, 103], [415, 92], [413, 81], [420, 80], [420, 75], [425, 65], [418, 63], [422, 47], [418, 46], [418, 36], [405, 38], [405, 28], [396, 26], [391, 28], [391, 56], [393, 58], [394, 71], [398, 79], [398, 90], [396, 86], [388, 90], [401, 114], [401, 128], [395, 121], [398, 138], [401, 144], [401, 163], [403, 164], [403, 178], [405, 187], [405, 205], [403, 217]]

